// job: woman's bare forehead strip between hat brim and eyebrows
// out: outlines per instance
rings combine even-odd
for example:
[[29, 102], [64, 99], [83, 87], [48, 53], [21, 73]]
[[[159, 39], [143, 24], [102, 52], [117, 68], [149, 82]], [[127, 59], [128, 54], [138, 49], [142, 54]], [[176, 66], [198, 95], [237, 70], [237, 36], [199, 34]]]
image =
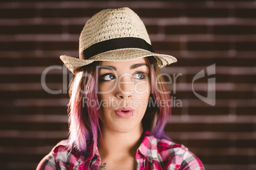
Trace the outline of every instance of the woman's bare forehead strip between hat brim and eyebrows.
[[134, 60], [118, 61], [118, 62], [103, 61], [103, 62], [101, 62], [101, 65], [129, 67], [129, 66], [131, 66], [133, 64], [136, 64], [136, 63], [146, 63], [145, 58], [136, 58]]

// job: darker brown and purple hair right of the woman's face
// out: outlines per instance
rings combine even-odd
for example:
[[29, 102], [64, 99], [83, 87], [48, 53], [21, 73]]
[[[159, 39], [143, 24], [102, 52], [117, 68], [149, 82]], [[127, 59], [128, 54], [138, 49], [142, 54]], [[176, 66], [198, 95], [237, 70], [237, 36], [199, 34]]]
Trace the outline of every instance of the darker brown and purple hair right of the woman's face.
[[[156, 138], [164, 138], [170, 140], [170, 138], [164, 133], [164, 127], [166, 126], [168, 117], [171, 116], [171, 106], [166, 105], [166, 107], [160, 107], [160, 101], [171, 100], [170, 95], [160, 93], [169, 91], [165, 83], [164, 77], [160, 75], [160, 69], [157, 66], [157, 61], [153, 56], [147, 57], [146, 63], [151, 65], [149, 68], [150, 72], [150, 82], [151, 82], [151, 95], [150, 102], [148, 103], [148, 108], [146, 110], [145, 116], [143, 117], [143, 128], [146, 131], [150, 131], [152, 136]], [[160, 75], [160, 76], [159, 76]], [[151, 103], [153, 101], [153, 103]]]

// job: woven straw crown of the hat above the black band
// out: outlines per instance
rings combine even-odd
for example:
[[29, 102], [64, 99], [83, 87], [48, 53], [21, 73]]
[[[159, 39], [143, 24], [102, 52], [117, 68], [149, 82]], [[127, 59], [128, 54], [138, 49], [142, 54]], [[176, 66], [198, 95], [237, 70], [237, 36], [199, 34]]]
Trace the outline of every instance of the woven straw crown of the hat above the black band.
[[144, 23], [130, 8], [108, 9], [96, 13], [87, 21], [80, 34], [80, 56], [92, 44], [120, 37], [138, 37], [151, 44]]

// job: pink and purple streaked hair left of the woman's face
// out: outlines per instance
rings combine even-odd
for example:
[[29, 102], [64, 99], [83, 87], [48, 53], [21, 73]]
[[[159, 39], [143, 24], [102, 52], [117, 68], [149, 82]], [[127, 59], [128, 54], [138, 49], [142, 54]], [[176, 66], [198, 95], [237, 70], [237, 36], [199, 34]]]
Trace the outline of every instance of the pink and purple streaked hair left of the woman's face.
[[[99, 128], [99, 104], [92, 107], [88, 100], [98, 101], [96, 66], [99, 62], [87, 65], [86, 70], [78, 72], [69, 89], [69, 148], [87, 150], [87, 144], [97, 147]], [[81, 68], [83, 69], [83, 68]]]

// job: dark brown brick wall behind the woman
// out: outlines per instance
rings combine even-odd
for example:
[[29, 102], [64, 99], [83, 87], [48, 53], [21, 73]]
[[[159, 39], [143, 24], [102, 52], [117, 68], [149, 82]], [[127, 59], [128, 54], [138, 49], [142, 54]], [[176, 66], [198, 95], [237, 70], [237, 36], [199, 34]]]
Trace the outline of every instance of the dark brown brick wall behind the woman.
[[[0, 169], [35, 169], [68, 136], [66, 92], [70, 72], [41, 74], [60, 65], [60, 55], [78, 56], [85, 22], [104, 8], [132, 8], [145, 22], [153, 48], [176, 56], [162, 69], [176, 104], [167, 134], [194, 152], [206, 169], [256, 169], [256, 1], [1, 1]], [[216, 105], [199, 100], [216, 79]], [[64, 74], [63, 74], [64, 72]], [[180, 74], [180, 75], [178, 75]], [[63, 86], [64, 84], [64, 86]]]

